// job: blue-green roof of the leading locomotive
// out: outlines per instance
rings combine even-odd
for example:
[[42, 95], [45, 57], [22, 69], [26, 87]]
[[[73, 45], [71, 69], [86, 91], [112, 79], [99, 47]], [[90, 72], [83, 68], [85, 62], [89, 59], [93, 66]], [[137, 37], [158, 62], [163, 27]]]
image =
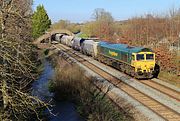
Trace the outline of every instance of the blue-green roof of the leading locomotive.
[[153, 52], [149, 48], [129, 46], [127, 44], [120, 44], [120, 43], [114, 44], [114, 43], [101, 41], [99, 45], [106, 48], [115, 49], [115, 50], [123, 51], [127, 53]]

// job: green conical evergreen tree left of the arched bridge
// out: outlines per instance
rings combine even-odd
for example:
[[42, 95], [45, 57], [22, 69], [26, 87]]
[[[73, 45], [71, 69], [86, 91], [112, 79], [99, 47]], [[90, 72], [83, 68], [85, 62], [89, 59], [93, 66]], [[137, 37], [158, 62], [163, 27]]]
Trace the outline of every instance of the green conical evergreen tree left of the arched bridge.
[[50, 28], [51, 20], [49, 19], [46, 10], [43, 5], [37, 6], [36, 11], [33, 14], [32, 26], [33, 37], [38, 38], [44, 34], [44, 32]]

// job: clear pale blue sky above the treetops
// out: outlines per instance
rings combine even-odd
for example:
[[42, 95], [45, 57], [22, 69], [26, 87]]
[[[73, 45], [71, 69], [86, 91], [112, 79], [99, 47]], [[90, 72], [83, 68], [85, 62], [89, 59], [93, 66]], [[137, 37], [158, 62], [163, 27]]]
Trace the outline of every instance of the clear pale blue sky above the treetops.
[[164, 14], [171, 8], [180, 8], [180, 0], [35, 0], [33, 8], [43, 4], [53, 22], [60, 19], [71, 22], [92, 20], [96, 8], [104, 8], [115, 20], [126, 20], [148, 13]]

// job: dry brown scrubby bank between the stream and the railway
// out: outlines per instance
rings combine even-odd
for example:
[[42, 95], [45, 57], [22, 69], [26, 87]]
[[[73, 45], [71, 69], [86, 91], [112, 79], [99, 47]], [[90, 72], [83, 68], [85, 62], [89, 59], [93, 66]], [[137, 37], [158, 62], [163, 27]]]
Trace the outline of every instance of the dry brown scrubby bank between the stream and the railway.
[[84, 120], [131, 121], [134, 120], [126, 110], [119, 108], [106, 93], [94, 84], [93, 77], [87, 77], [85, 70], [77, 64], [69, 64], [61, 56], [51, 56], [55, 76], [50, 82], [50, 90], [58, 101], [70, 101]]

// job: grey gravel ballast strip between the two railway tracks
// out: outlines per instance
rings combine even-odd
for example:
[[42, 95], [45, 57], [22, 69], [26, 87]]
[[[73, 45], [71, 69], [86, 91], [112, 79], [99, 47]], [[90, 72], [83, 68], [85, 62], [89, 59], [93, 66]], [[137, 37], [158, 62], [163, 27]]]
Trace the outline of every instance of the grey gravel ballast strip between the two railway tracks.
[[[153, 89], [150, 86], [145, 85], [143, 80], [136, 80], [133, 79], [126, 74], [121, 73], [120, 71], [113, 69], [109, 66], [106, 66], [102, 63], [97, 62], [96, 60], [89, 58], [84, 55], [80, 55], [82, 58], [87, 60], [88, 62], [94, 64], [95, 66], [101, 68], [103, 71], [113, 75], [114, 77], [118, 78], [119, 80], [123, 81], [124, 83], [130, 85], [131, 87], [139, 90], [140, 92], [145, 93], [149, 97], [154, 98], [155, 100], [163, 103], [164, 105], [167, 105], [168, 107], [172, 108], [173, 110], [177, 111], [180, 113], [180, 98], [178, 97], [179, 94], [175, 95], [174, 97], [169, 97], [169, 95], [166, 95], [162, 92], [160, 92], [157, 89]], [[156, 79], [155, 79], [156, 80]], [[145, 80], [147, 81], [147, 80]], [[172, 87], [174, 90], [179, 92], [179, 89], [176, 87]], [[177, 99], [176, 99], [177, 98]]]

